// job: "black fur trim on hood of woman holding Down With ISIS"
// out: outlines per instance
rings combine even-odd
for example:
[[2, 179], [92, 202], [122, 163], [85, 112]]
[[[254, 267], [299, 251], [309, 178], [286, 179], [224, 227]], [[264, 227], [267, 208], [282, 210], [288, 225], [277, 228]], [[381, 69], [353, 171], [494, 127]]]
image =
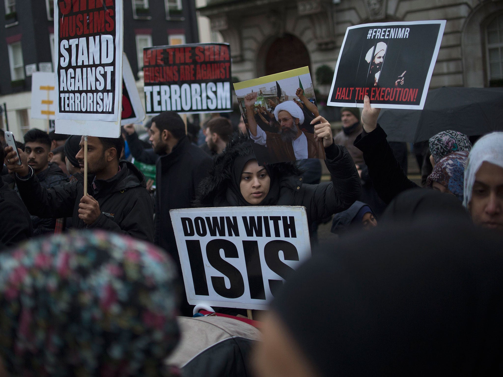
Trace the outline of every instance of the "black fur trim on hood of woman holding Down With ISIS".
[[[194, 205], [196, 207], [214, 207], [218, 199], [225, 198], [227, 188], [231, 184], [232, 164], [238, 156], [254, 155], [251, 143], [247, 135], [235, 133], [222, 153], [214, 157], [213, 167], [208, 176], [199, 184], [198, 194]], [[280, 180], [280, 185], [287, 184], [288, 178], [295, 181], [302, 171], [292, 162], [280, 162], [268, 165], [274, 179]]]

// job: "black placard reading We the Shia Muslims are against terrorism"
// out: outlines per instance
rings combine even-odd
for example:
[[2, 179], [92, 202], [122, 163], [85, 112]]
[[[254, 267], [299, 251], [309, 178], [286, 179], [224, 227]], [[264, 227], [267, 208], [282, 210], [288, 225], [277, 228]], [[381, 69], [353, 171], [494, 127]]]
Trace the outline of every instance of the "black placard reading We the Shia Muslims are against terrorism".
[[232, 111], [227, 43], [145, 47], [143, 80], [148, 115]]

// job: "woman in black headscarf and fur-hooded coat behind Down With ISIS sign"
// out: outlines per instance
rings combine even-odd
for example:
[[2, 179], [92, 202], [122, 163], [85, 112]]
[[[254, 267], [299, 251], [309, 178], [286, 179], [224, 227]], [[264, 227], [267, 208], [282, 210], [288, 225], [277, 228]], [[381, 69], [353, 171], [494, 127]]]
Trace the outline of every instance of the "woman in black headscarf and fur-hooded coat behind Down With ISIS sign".
[[[322, 123], [315, 132], [322, 129], [318, 126], [326, 130]], [[346, 210], [360, 195], [360, 179], [346, 148], [333, 143], [331, 131], [325, 136], [325, 164], [333, 183], [303, 184], [301, 171], [290, 162], [259, 166], [248, 137], [234, 135], [201, 182], [196, 205], [304, 206], [309, 225]]]

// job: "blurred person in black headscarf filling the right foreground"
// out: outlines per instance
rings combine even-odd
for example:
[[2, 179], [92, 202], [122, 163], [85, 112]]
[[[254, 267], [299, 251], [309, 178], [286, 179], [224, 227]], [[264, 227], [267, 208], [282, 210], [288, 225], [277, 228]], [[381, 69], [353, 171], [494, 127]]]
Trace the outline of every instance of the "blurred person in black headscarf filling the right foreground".
[[435, 214], [327, 246], [276, 296], [257, 376], [500, 375], [502, 244]]

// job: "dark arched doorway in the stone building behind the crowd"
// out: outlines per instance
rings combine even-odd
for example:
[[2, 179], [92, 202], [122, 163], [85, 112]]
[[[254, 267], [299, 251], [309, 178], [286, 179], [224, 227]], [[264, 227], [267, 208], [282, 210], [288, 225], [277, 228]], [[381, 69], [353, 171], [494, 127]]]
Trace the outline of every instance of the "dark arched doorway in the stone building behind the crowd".
[[[304, 43], [294, 35], [285, 34], [277, 38], [266, 54], [266, 75], [310, 66], [309, 52]], [[309, 67], [311, 71], [311, 67]]]

